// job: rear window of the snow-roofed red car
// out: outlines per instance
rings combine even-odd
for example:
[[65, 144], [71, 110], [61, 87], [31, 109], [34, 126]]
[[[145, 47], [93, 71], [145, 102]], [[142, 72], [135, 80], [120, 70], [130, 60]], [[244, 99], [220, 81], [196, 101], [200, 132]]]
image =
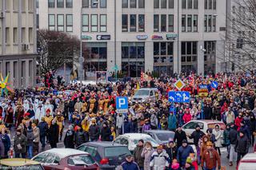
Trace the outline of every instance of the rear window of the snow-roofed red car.
[[90, 155], [79, 155], [79, 156], [70, 156], [67, 160], [70, 165], [90, 165], [95, 164], [95, 160]]

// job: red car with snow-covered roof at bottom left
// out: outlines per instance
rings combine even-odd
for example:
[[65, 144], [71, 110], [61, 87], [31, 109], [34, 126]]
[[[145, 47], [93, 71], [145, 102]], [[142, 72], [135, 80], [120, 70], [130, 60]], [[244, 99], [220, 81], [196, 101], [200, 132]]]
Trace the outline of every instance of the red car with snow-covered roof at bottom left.
[[46, 170], [98, 170], [98, 164], [88, 152], [74, 148], [52, 148], [34, 156]]

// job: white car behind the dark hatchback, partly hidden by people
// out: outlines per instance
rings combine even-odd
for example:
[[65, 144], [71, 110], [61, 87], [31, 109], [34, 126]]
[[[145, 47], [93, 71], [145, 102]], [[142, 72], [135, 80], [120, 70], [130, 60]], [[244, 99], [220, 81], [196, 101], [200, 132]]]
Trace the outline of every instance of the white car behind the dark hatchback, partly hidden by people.
[[124, 144], [128, 147], [130, 152], [134, 152], [134, 148], [138, 144], [138, 140], [150, 141], [153, 148], [158, 147], [158, 142], [154, 140], [150, 135], [144, 133], [126, 133], [118, 136], [114, 142], [118, 144]]

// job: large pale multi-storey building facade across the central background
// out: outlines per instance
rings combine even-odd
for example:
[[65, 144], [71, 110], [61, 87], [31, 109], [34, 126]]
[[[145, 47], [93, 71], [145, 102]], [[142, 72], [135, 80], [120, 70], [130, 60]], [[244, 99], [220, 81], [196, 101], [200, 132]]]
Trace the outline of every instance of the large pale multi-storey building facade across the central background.
[[[38, 0], [39, 29], [72, 30], [69, 33], [79, 38], [81, 16], [88, 16], [88, 27], [86, 16], [82, 22], [83, 56], [87, 77], [89, 72], [94, 70], [114, 71], [115, 64], [119, 70], [132, 77], [139, 77], [140, 71], [168, 74], [181, 71], [187, 73], [221, 71], [225, 31], [220, 30], [225, 30], [226, 27], [226, 1], [98, 0], [98, 7], [94, 8], [92, 2], [95, 1], [97, 2], [97, 0], [50, 0], [53, 2], [50, 5], [54, 4], [54, 7], [49, 7], [49, 1]], [[63, 7], [61, 7], [62, 2]], [[82, 8], [81, 15], [82, 2], [86, 6]], [[67, 3], [68, 5], [72, 3], [72, 7], [67, 7]], [[59, 14], [63, 14], [63, 24], [62, 17], [58, 17]], [[67, 27], [67, 14], [72, 14], [72, 29]], [[105, 14], [106, 23], [105, 16], [101, 17]], [[134, 23], [134, 14], [136, 23]], [[96, 15], [98, 21], [94, 20]], [[158, 15], [158, 29], [156, 15]], [[182, 31], [184, 29], [186, 31]], [[107, 40], [99, 40], [99, 35], [103, 35]], [[168, 39], [168, 36], [171, 38]]]

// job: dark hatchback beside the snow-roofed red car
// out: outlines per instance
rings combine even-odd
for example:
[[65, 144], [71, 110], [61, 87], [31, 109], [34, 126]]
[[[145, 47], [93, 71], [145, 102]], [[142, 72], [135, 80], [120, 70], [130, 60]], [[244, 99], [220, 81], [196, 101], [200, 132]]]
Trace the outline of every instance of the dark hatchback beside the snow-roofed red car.
[[130, 154], [127, 146], [114, 142], [88, 142], [77, 149], [89, 152], [101, 170], [114, 170], [125, 161], [126, 154]]

